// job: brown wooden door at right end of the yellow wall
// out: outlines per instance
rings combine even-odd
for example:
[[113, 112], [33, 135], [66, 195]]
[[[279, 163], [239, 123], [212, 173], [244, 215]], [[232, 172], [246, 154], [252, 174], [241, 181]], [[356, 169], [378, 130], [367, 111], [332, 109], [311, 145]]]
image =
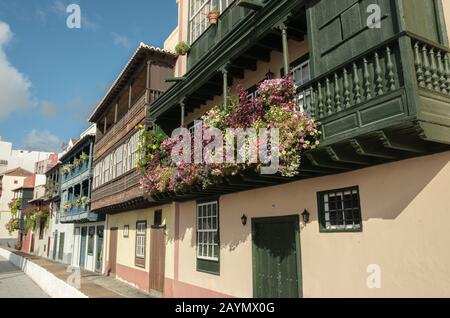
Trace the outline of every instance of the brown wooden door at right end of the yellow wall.
[[150, 235], [150, 290], [164, 292], [166, 261], [165, 227], [154, 226]]

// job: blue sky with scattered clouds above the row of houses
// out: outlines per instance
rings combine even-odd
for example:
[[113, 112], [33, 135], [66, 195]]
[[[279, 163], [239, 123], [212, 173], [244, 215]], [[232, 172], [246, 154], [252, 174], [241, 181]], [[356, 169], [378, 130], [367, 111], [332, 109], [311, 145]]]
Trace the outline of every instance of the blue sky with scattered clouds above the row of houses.
[[[69, 29], [69, 4], [81, 29]], [[175, 0], [0, 0], [0, 136], [57, 151], [87, 117], [139, 42], [162, 46]]]

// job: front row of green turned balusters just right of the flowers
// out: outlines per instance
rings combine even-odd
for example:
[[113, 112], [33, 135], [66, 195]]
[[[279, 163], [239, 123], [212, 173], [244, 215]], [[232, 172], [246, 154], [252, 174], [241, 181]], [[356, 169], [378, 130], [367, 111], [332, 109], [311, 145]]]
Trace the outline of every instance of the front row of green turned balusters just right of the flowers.
[[397, 39], [378, 46], [299, 87], [299, 96], [310, 96], [304, 110], [322, 120], [395, 91], [402, 86], [400, 65]]

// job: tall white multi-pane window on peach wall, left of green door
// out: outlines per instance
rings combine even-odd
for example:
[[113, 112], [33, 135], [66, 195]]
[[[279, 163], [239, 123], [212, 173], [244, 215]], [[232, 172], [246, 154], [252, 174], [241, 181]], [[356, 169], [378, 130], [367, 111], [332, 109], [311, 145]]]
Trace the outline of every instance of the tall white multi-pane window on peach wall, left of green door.
[[[208, 207], [211, 207], [211, 215], [208, 216]], [[215, 207], [215, 214], [214, 209]], [[202, 213], [200, 213], [202, 211]], [[202, 215], [202, 216], [200, 216]], [[215, 222], [214, 222], [215, 219]], [[208, 222], [209, 221], [209, 222]], [[206, 261], [219, 261], [220, 257], [220, 238], [219, 238], [219, 202], [211, 201], [197, 204], [197, 259]], [[204, 228], [204, 225], [211, 224], [211, 228]], [[217, 237], [217, 243], [214, 237]], [[202, 239], [200, 239], [202, 238]], [[210, 239], [211, 238], [211, 239]], [[211, 255], [209, 254], [209, 247], [211, 248]], [[206, 253], [204, 253], [206, 248]], [[218, 256], [215, 251], [218, 249]]]

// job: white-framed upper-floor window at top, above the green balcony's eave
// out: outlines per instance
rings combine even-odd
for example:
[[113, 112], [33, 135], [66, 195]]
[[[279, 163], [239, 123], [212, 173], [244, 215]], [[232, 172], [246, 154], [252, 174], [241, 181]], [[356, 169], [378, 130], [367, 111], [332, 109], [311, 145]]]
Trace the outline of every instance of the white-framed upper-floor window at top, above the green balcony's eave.
[[197, 40], [209, 27], [208, 13], [212, 9], [223, 12], [234, 0], [191, 0], [190, 1], [190, 42]]

